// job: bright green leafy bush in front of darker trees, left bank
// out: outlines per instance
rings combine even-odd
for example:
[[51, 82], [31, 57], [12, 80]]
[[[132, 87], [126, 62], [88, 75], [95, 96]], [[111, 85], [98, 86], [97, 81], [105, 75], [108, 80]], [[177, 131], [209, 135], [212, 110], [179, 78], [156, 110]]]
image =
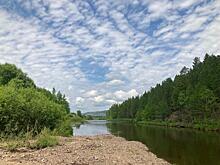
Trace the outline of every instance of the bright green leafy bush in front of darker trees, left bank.
[[0, 87], [0, 128], [18, 135], [43, 128], [53, 130], [66, 119], [65, 109], [33, 88]]

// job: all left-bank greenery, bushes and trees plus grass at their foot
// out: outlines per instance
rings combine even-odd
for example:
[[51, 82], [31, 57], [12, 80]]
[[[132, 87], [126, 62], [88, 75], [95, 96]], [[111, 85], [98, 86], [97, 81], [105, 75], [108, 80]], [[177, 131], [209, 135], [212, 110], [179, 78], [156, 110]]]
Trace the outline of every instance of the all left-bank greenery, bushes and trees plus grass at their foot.
[[44, 148], [72, 136], [73, 123], [84, 119], [70, 112], [65, 94], [35, 85], [21, 69], [0, 64], [0, 147]]

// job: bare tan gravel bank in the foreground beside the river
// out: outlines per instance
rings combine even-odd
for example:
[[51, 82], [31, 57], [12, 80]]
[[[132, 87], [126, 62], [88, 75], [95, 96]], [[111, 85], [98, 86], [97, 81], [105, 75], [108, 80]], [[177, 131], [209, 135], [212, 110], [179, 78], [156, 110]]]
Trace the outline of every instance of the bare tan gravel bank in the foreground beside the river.
[[113, 135], [60, 138], [60, 145], [41, 150], [0, 149], [0, 164], [4, 165], [141, 165], [169, 164], [157, 158], [148, 148], [135, 141]]

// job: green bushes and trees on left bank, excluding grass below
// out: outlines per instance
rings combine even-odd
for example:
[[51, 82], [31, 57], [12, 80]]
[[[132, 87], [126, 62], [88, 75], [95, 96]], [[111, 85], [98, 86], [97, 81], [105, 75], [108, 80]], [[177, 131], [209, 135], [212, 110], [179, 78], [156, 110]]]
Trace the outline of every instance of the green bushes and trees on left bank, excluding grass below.
[[70, 135], [70, 108], [65, 95], [37, 87], [15, 65], [0, 65], [1, 137], [39, 134], [43, 129]]

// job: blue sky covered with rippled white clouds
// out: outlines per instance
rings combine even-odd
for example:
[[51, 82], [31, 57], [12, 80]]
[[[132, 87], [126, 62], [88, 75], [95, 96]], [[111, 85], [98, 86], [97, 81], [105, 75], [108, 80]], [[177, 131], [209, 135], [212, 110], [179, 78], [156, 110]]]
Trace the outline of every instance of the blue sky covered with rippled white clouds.
[[0, 63], [106, 110], [220, 53], [220, 0], [0, 0]]

